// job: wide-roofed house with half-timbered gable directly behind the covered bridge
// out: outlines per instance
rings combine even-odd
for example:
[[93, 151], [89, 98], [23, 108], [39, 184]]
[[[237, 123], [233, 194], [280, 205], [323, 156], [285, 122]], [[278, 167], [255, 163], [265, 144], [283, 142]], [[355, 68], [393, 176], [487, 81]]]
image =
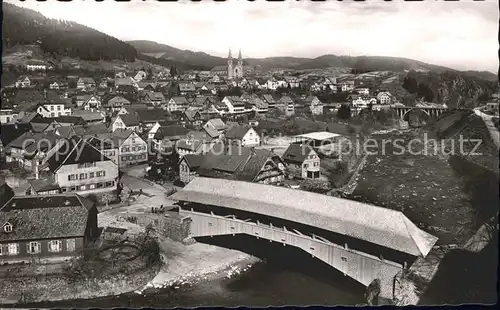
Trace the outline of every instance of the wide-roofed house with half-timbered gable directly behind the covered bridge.
[[184, 165], [183, 161], [180, 161], [184, 167], [179, 167], [179, 175], [183, 175], [184, 180], [190, 181], [199, 175], [278, 185], [285, 179], [284, 162], [268, 150], [217, 143], [210, 152], [198, 156], [202, 158], [195, 159], [195, 163], [191, 161], [191, 165]]

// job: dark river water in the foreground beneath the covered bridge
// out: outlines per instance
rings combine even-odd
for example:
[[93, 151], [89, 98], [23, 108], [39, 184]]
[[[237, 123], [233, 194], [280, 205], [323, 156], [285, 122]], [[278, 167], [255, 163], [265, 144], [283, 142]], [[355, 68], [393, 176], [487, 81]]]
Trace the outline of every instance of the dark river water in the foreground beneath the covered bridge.
[[251, 249], [252, 254], [259, 254], [263, 261], [231, 278], [222, 274], [178, 289], [147, 291], [145, 295], [130, 293], [90, 300], [26, 304], [22, 307], [333, 306], [363, 303], [365, 288], [361, 284], [295, 248], [244, 236], [213, 238], [210, 243], [233, 248], [245, 244], [245, 248]]

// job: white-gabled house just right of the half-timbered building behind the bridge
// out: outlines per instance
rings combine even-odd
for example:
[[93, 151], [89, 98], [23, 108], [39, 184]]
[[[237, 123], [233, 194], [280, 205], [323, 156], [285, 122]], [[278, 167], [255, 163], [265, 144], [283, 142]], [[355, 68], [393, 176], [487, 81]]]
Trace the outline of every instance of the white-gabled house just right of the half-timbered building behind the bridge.
[[308, 144], [292, 143], [283, 153], [283, 161], [299, 169], [299, 178], [316, 179], [320, 177], [320, 158]]

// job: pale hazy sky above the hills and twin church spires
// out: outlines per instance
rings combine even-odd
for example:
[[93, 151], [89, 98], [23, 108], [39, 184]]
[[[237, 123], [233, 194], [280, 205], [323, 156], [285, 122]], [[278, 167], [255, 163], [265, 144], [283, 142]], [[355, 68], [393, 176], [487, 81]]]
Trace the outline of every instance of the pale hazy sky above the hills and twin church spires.
[[122, 40], [243, 57], [397, 56], [460, 70], [498, 71], [497, 0], [456, 2], [203, 0], [8, 1]]

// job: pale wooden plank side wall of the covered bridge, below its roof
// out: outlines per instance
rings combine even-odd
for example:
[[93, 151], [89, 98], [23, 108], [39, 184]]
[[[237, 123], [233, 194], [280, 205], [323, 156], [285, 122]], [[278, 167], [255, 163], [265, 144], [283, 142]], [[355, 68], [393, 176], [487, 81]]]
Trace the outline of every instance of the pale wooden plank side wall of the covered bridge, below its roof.
[[312, 256], [334, 267], [344, 275], [368, 286], [374, 279], [381, 281], [381, 296], [392, 298], [394, 277], [401, 272], [401, 264], [383, 260], [376, 256], [337, 245], [326, 239], [288, 231], [286, 227], [275, 227], [262, 223], [240, 220], [231, 216], [218, 216], [180, 209], [181, 215], [189, 216], [191, 237], [247, 234], [300, 248]]

